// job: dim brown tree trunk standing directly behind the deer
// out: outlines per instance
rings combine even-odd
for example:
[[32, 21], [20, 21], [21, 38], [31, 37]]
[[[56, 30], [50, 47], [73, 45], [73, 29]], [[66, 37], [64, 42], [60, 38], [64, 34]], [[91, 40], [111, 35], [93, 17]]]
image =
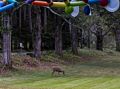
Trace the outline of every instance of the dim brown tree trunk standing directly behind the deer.
[[56, 17], [56, 29], [55, 29], [55, 53], [62, 56], [62, 20]]

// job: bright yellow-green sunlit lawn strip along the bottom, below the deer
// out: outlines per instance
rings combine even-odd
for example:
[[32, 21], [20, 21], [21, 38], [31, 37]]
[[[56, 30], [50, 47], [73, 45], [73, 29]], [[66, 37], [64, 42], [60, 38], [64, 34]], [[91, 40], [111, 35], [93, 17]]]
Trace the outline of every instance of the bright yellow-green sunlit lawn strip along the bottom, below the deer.
[[0, 89], [120, 89], [120, 77], [1, 78]]

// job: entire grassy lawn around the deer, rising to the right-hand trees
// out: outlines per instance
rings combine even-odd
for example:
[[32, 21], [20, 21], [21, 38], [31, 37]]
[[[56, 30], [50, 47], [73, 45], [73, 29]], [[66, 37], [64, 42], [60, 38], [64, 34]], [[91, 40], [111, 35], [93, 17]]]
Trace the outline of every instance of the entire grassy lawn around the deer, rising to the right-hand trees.
[[49, 69], [12, 71], [0, 76], [0, 89], [120, 89], [119, 55], [105, 54], [63, 68], [65, 76], [52, 76]]

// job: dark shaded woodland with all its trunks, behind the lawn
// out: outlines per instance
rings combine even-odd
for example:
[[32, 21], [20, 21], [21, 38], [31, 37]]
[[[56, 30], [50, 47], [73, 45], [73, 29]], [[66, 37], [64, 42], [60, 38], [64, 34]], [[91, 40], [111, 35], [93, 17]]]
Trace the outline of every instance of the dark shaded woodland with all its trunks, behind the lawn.
[[81, 8], [76, 18], [66, 15], [62, 9], [31, 5], [2, 13], [3, 64], [12, 66], [11, 52], [32, 52], [37, 60], [47, 50], [54, 50], [59, 56], [63, 50], [77, 55], [78, 48], [120, 52], [120, 12], [109, 13], [92, 7], [92, 16], [84, 15]]

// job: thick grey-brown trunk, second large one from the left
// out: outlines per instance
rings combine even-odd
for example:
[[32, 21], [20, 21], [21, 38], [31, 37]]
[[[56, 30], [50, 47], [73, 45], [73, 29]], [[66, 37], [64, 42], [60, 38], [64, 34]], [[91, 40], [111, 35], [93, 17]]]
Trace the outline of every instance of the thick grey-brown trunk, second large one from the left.
[[[37, 9], [37, 7], [36, 7]], [[40, 8], [37, 9], [40, 12]], [[34, 56], [36, 59], [41, 58], [41, 13], [36, 14], [36, 22], [35, 22], [35, 38], [34, 38]]]

